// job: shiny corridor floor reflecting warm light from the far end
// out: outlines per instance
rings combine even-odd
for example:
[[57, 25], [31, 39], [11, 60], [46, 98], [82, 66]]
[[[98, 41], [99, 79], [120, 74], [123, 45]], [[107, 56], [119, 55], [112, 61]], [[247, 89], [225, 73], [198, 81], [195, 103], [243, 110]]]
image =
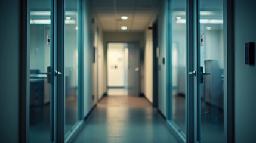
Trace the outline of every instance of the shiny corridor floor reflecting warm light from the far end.
[[145, 98], [104, 97], [75, 143], [178, 142], [156, 109]]

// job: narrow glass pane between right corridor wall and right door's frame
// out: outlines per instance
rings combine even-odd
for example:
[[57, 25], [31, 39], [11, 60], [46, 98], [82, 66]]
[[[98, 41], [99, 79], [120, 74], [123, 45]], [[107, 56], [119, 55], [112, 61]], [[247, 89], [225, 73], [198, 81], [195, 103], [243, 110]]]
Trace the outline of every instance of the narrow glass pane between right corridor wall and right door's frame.
[[[172, 120], [186, 133], [186, 0], [171, 1]], [[183, 21], [183, 23], [180, 23]]]

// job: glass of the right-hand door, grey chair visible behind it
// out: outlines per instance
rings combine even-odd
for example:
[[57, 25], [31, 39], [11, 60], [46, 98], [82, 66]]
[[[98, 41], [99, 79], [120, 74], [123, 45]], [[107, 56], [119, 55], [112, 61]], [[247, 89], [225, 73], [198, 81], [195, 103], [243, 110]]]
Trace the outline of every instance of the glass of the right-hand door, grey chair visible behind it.
[[201, 142], [224, 142], [223, 0], [200, 0]]

